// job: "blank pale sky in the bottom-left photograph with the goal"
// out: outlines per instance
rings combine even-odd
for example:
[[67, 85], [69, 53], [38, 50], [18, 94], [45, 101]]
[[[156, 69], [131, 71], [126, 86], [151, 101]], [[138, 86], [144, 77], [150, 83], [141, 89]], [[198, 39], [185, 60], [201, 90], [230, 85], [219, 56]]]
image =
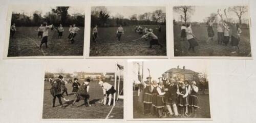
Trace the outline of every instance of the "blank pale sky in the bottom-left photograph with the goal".
[[56, 73], [62, 69], [65, 73], [73, 72], [95, 72], [95, 73], [115, 73], [116, 64], [122, 65], [120, 61], [108, 60], [53, 60], [46, 64], [46, 72]]

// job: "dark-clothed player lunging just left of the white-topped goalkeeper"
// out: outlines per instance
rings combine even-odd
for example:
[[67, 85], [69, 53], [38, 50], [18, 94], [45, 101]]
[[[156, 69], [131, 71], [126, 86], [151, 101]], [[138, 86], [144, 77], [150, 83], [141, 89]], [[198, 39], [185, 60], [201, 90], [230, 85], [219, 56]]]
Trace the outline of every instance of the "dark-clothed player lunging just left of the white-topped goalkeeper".
[[74, 100], [74, 102], [72, 103], [72, 105], [75, 105], [76, 102], [79, 102], [80, 100], [84, 100], [84, 105], [86, 106], [91, 106], [89, 103], [89, 89], [90, 89], [90, 79], [86, 79], [86, 81], [84, 81], [80, 88], [77, 91], [76, 94], [76, 100]]

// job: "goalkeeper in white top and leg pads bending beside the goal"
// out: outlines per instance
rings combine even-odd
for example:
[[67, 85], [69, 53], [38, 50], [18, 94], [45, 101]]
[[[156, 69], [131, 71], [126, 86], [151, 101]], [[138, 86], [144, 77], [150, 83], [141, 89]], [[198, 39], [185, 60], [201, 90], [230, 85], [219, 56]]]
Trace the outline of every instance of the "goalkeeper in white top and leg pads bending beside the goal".
[[114, 86], [109, 84], [108, 82], [99, 81], [99, 86], [102, 87], [103, 95], [104, 95], [104, 102], [102, 105], [106, 105], [106, 99], [109, 97], [108, 106], [111, 105], [112, 95], [116, 93]]

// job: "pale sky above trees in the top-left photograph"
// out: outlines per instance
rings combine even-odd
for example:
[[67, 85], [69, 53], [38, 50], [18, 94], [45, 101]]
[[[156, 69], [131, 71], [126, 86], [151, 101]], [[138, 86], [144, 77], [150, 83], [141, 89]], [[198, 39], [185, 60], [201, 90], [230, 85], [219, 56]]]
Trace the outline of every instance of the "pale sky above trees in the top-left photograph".
[[[23, 13], [28, 16], [33, 16], [35, 11], [40, 11], [42, 14], [41, 16], [44, 16], [47, 12], [51, 12], [52, 9], [55, 9], [56, 6], [25, 6], [20, 5], [18, 7], [13, 7], [13, 12], [15, 13]], [[81, 13], [84, 14], [84, 7], [70, 7], [68, 10], [68, 13], [70, 15], [74, 13]]]

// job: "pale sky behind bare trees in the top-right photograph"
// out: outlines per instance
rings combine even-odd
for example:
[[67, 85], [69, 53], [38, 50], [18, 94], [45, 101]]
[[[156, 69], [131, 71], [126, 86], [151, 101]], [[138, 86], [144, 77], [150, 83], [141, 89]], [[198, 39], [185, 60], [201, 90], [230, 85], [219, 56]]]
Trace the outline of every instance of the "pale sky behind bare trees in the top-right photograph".
[[[189, 22], [203, 22], [204, 18], [208, 17], [211, 13], [217, 14], [218, 9], [221, 9], [221, 13], [224, 15], [224, 9], [228, 10], [228, 6], [196, 6], [194, 14], [190, 15]], [[174, 12], [173, 18], [180, 21], [180, 15], [180, 13]], [[238, 17], [234, 13], [228, 13], [227, 11], [227, 16], [228, 18], [233, 18], [234, 20], [238, 21]], [[244, 14], [244, 16], [242, 16], [242, 19], [243, 18], [248, 19], [248, 13]], [[220, 19], [219, 16], [218, 19]]]

